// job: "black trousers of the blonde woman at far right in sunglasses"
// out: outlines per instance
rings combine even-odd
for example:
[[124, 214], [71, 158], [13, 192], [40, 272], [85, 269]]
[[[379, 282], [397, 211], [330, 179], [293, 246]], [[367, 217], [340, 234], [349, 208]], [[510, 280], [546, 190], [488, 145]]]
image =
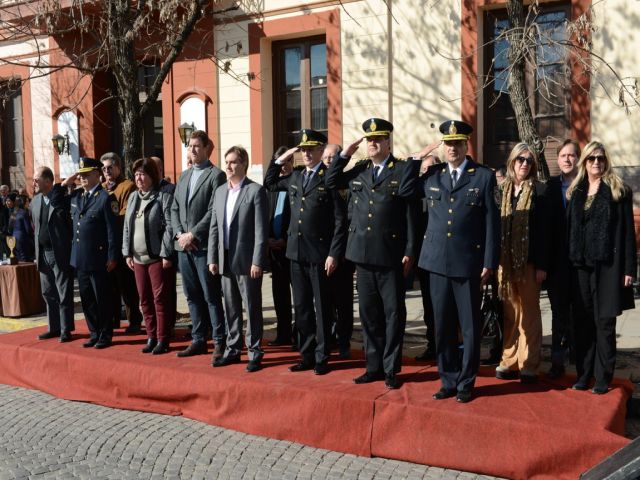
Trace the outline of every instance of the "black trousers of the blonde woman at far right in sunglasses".
[[595, 377], [609, 384], [616, 367], [616, 317], [600, 317], [596, 270], [576, 268], [572, 284], [578, 381]]

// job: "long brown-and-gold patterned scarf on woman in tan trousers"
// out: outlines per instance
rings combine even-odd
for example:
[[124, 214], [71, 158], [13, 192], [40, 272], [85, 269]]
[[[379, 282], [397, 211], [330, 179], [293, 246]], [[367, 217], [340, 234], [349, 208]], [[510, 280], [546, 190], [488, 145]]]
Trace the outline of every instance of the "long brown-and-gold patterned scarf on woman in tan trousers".
[[534, 190], [534, 180], [525, 180], [522, 183], [522, 191], [520, 192], [516, 209], [513, 211], [511, 199], [514, 195], [515, 186], [510, 180], [503, 184], [500, 205], [502, 239], [500, 242], [500, 268], [498, 270], [501, 298], [508, 297], [512, 282], [522, 280], [527, 266], [527, 259], [529, 258], [529, 213]]

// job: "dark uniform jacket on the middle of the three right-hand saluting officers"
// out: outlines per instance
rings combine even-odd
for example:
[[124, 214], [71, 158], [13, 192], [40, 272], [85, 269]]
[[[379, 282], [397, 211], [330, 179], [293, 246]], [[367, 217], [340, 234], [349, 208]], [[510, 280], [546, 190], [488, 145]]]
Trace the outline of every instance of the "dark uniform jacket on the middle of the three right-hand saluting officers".
[[327, 170], [329, 188], [349, 188], [347, 260], [397, 268], [403, 256], [415, 257], [415, 202], [405, 182], [407, 162], [390, 155], [377, 179], [373, 162], [361, 160], [348, 171], [346, 157], [336, 155]]

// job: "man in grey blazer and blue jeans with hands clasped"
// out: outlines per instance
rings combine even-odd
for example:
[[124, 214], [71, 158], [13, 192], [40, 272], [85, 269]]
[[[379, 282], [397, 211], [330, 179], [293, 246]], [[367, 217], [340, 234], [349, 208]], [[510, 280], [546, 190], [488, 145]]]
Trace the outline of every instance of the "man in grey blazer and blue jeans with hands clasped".
[[171, 225], [193, 329], [192, 342], [179, 357], [207, 353], [208, 325], [213, 329], [214, 358], [224, 352], [225, 325], [220, 276], [207, 271], [207, 235], [213, 192], [225, 183], [222, 170], [209, 161], [213, 142], [202, 130], [191, 134], [187, 147], [193, 166], [180, 175], [171, 207]]

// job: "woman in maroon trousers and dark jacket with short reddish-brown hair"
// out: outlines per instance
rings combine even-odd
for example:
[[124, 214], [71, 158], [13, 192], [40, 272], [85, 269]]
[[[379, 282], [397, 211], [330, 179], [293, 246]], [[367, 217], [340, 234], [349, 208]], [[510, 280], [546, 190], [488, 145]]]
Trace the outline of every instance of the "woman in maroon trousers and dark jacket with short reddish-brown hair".
[[148, 338], [142, 353], [158, 355], [169, 351], [174, 318], [172, 292], [176, 285], [170, 217], [173, 196], [158, 190], [160, 175], [152, 159], [136, 160], [132, 170], [138, 190], [129, 195], [127, 203], [122, 256], [135, 274], [140, 296]]

